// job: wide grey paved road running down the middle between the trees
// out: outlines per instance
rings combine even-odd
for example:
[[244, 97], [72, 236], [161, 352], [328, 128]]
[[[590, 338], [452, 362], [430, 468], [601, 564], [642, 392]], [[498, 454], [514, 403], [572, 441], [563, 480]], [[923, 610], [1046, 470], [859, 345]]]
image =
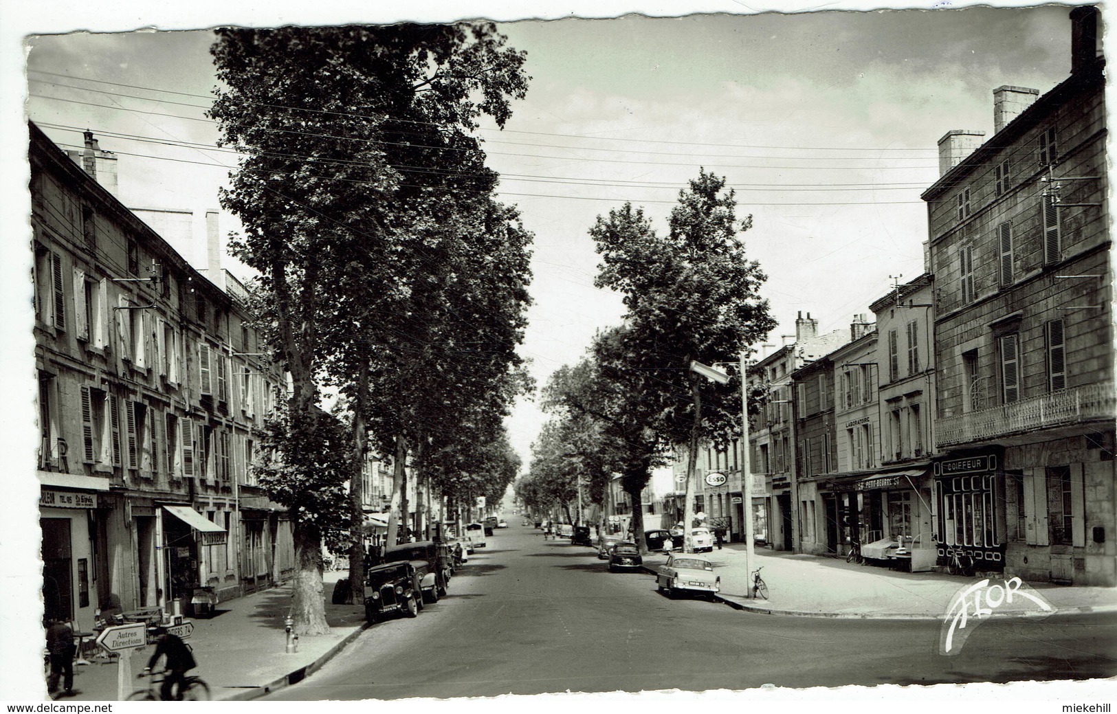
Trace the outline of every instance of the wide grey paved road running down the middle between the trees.
[[938, 623], [669, 600], [591, 549], [512, 527], [417, 619], [381, 622], [270, 699], [1081, 679], [1117, 675], [1117, 616], [987, 621], [955, 657]]

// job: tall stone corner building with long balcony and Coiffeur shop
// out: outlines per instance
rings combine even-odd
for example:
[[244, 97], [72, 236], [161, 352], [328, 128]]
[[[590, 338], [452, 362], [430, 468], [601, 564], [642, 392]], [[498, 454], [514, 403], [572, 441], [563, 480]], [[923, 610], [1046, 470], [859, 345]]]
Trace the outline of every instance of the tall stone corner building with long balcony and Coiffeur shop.
[[[939, 562], [1117, 583], [1104, 59], [1070, 11], [1070, 76], [1000, 87], [994, 134], [941, 141], [924, 193], [935, 275]], [[968, 135], [975, 134], [970, 132]]]

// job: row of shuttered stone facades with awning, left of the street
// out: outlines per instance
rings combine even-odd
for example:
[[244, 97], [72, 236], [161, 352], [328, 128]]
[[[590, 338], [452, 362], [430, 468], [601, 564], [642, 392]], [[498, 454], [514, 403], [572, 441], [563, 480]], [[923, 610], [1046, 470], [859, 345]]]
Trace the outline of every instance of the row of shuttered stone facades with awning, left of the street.
[[189, 612], [294, 559], [252, 476], [278, 380], [242, 303], [98, 183], [86, 144], [78, 162], [30, 126], [44, 598], [92, 626]]

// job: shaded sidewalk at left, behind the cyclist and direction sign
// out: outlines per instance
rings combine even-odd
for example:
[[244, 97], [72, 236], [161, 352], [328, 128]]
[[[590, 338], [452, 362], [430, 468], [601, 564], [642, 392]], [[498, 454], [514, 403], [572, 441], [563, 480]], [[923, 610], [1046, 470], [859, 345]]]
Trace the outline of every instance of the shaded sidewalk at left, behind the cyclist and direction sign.
[[[284, 619], [290, 603], [290, 586], [221, 602], [212, 618], [191, 620], [194, 631], [187, 642], [198, 660], [191, 674], [209, 684], [213, 699], [251, 699], [309, 675], [364, 629], [362, 607], [330, 603], [334, 583], [345, 577], [344, 570], [325, 573], [330, 635], [299, 638], [298, 651], [294, 654], [285, 651]], [[131, 688], [145, 686], [135, 675], [143, 672], [153, 651], [151, 645], [133, 650]], [[77, 694], [63, 697], [59, 703], [116, 699], [116, 659], [109, 661], [99, 656], [88, 659], [93, 664], [74, 667]]]

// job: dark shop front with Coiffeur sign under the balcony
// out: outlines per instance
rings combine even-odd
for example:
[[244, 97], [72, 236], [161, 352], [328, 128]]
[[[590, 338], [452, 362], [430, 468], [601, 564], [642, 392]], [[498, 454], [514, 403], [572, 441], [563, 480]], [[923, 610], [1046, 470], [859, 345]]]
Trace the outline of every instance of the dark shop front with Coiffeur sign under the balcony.
[[996, 453], [935, 463], [935, 546], [939, 565], [955, 550], [980, 571], [1004, 570], [1004, 493]]

